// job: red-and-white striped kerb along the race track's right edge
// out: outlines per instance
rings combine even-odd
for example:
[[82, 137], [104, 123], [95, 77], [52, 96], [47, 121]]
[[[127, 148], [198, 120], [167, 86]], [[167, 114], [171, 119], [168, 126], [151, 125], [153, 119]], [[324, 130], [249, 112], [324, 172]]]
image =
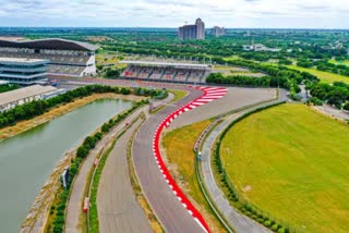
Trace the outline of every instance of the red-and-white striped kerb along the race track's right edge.
[[153, 139], [153, 152], [154, 157], [156, 159], [156, 162], [160, 169], [160, 172], [164, 175], [164, 179], [168, 183], [169, 187], [172, 189], [173, 194], [177, 196], [179, 201], [182, 203], [183, 207], [189, 211], [189, 213], [194, 218], [194, 220], [200, 224], [205, 232], [210, 232], [209, 228], [202, 217], [202, 214], [197, 211], [197, 209], [190, 203], [190, 200], [185, 197], [183, 192], [179, 188], [172, 176], [170, 175], [168, 169], [166, 168], [166, 164], [163, 160], [161, 154], [160, 154], [160, 134], [164, 128], [168, 127], [171, 122], [180, 114], [190, 111], [192, 109], [195, 109], [197, 107], [201, 107], [203, 105], [206, 105], [210, 101], [214, 101], [216, 99], [219, 99], [224, 97], [227, 94], [226, 88], [221, 87], [193, 87], [201, 89], [204, 94], [195, 99], [194, 101], [181, 107], [180, 109], [176, 110], [171, 114], [169, 114], [161, 124], [157, 127], [154, 139]]

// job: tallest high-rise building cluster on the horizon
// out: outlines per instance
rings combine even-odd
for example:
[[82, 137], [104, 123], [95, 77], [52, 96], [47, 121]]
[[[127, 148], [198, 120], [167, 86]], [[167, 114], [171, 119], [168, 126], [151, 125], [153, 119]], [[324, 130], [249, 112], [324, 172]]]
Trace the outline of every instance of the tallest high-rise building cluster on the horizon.
[[205, 23], [197, 19], [194, 25], [179, 27], [179, 39], [205, 39]]

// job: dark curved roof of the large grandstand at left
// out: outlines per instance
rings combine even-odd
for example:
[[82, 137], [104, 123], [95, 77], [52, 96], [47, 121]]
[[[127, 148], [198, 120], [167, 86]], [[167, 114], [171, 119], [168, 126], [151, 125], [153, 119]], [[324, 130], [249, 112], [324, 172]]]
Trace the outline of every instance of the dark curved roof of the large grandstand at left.
[[36, 39], [25, 41], [9, 41], [0, 39], [0, 47], [76, 51], [95, 51], [97, 49], [96, 46], [87, 42], [80, 42], [60, 38]]

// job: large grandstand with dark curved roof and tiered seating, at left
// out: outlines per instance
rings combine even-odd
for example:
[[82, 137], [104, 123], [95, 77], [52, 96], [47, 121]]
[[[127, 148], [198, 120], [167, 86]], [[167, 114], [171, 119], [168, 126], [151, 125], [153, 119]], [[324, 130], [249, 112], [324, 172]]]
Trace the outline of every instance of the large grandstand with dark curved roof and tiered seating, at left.
[[48, 60], [48, 76], [94, 76], [96, 49], [91, 44], [58, 38], [26, 41], [0, 39], [0, 58]]

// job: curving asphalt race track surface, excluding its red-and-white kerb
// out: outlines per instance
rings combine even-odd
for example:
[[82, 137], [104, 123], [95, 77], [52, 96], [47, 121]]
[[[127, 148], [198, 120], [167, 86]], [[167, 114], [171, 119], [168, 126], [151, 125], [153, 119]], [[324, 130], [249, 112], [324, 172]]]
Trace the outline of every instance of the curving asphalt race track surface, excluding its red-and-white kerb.
[[132, 151], [134, 169], [142, 191], [165, 231], [169, 233], [203, 232], [203, 229], [169, 188], [153, 156], [153, 135], [160, 122], [179, 107], [202, 95], [201, 90], [189, 88], [186, 90], [190, 91], [190, 95], [185, 98], [147, 119], [134, 139]]

